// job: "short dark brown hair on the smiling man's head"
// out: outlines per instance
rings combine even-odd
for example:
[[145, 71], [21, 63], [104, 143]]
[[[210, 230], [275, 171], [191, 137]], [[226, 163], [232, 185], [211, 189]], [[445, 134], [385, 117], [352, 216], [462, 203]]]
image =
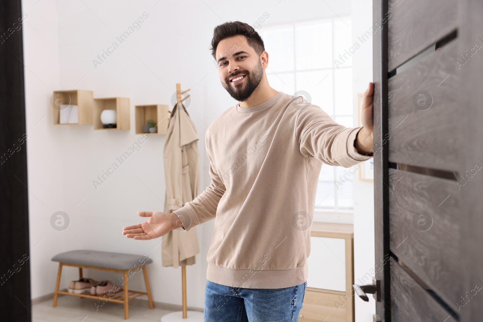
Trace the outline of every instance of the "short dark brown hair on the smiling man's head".
[[248, 39], [248, 44], [255, 49], [256, 55], [260, 56], [265, 51], [263, 40], [250, 25], [241, 21], [228, 21], [224, 24], [218, 25], [213, 29], [213, 39], [210, 50], [213, 58], [216, 60], [216, 47], [218, 43], [226, 38], [236, 35], [244, 35]]

